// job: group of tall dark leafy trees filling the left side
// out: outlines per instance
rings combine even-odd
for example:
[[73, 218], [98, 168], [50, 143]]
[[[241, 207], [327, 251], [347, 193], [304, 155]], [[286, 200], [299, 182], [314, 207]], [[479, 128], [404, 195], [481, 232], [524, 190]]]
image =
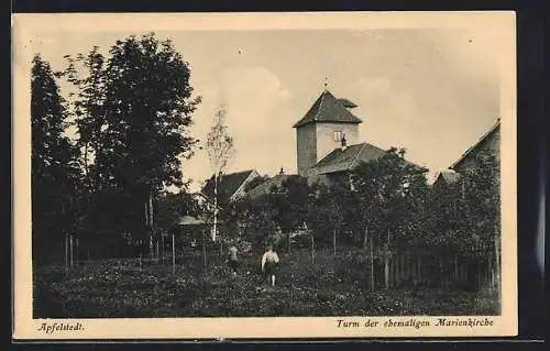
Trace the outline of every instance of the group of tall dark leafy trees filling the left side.
[[[152, 254], [154, 209], [166, 187], [185, 189], [182, 160], [197, 143], [188, 134], [200, 102], [189, 66], [154, 34], [117, 41], [107, 55], [92, 47], [65, 58], [66, 69], [54, 74], [36, 56], [32, 73], [36, 250], [51, 256], [40, 242], [70, 232], [90, 242], [119, 238]], [[73, 86], [67, 100], [56, 78]]]

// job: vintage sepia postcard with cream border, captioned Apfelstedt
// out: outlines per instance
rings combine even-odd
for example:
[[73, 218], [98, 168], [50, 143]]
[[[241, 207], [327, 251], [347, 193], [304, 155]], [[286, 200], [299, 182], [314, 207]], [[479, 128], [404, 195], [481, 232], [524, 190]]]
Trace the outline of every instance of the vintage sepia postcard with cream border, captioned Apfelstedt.
[[14, 339], [517, 334], [515, 25], [13, 15]]

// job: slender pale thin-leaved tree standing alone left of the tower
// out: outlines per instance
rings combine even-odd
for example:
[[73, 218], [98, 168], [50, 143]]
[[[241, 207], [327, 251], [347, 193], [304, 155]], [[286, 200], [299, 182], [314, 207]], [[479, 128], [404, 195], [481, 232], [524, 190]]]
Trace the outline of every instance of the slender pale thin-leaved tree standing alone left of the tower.
[[213, 227], [212, 241], [216, 241], [218, 232], [218, 178], [220, 173], [224, 172], [235, 156], [233, 139], [228, 133], [226, 125], [227, 107], [221, 105], [213, 118], [213, 124], [207, 136], [206, 149], [210, 166], [213, 171]]

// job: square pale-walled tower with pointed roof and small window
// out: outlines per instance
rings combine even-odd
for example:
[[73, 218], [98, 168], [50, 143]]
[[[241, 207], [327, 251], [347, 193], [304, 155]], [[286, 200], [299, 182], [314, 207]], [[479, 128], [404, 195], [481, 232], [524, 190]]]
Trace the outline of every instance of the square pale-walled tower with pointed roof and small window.
[[350, 111], [355, 107], [350, 100], [338, 99], [324, 89], [306, 116], [294, 124], [299, 175], [307, 176], [308, 169], [331, 151], [359, 140], [362, 121]]

